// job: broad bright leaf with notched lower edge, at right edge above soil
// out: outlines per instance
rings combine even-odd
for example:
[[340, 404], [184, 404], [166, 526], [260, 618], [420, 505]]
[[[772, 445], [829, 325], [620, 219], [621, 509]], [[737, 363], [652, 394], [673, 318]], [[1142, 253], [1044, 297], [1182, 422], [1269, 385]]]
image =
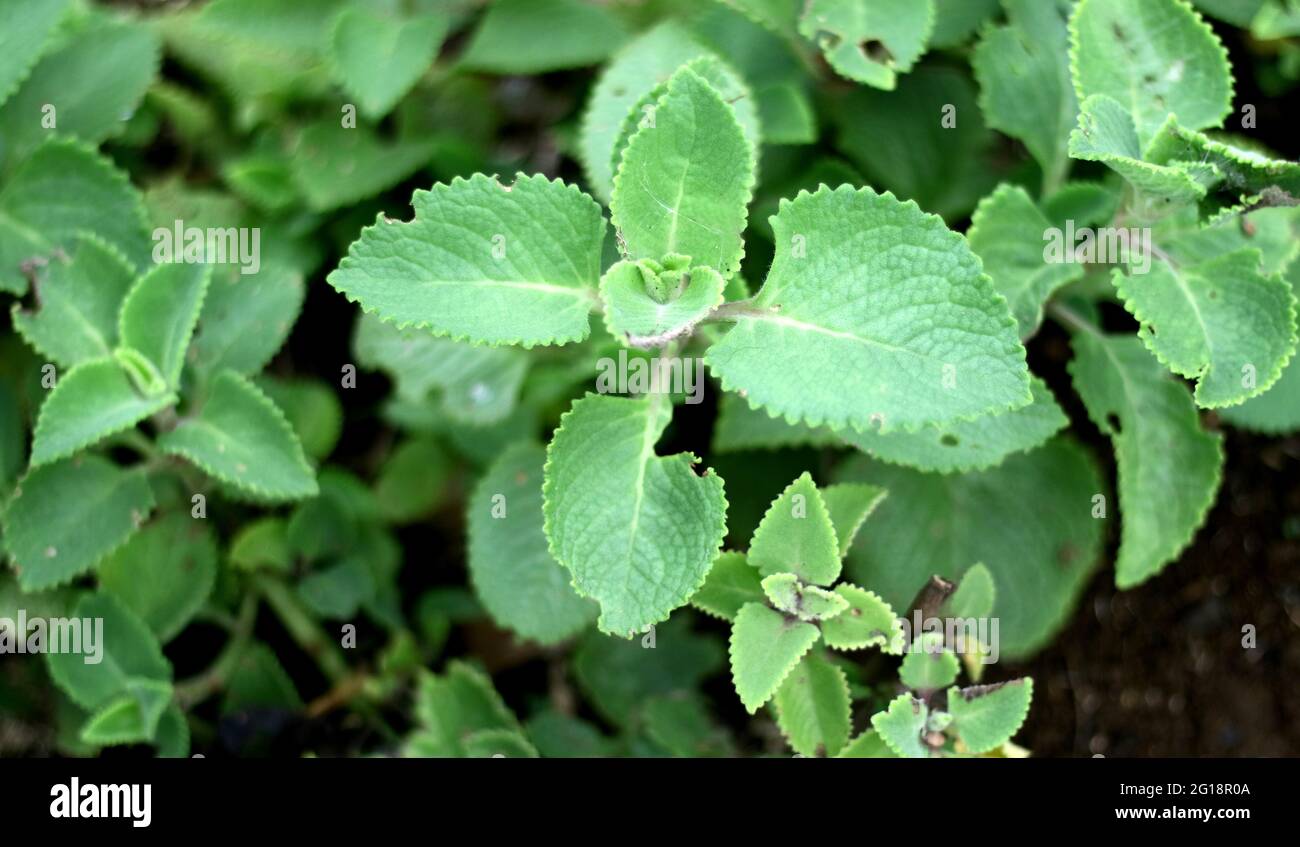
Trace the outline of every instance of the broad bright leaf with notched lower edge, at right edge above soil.
[[1236, 249], [1195, 265], [1152, 262], [1148, 274], [1114, 272], [1147, 348], [1196, 379], [1196, 404], [1236, 405], [1264, 394], [1296, 349], [1291, 286], [1260, 272], [1260, 252]]

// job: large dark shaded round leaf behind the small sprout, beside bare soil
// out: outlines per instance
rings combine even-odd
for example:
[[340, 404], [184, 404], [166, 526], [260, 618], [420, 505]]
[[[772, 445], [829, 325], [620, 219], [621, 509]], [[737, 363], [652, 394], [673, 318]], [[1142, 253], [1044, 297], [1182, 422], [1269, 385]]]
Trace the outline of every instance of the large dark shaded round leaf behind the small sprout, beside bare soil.
[[[1104, 525], [1092, 517], [1092, 498], [1104, 494], [1102, 479], [1092, 459], [1062, 438], [976, 473], [924, 474], [858, 460], [842, 477], [889, 491], [872, 531], [849, 551], [854, 581], [907, 608], [932, 575], [959, 579], [985, 563], [1005, 601], [1004, 657], [1028, 655], [1053, 635], [1101, 555]], [[1020, 516], [1026, 503], [1034, 504], [1032, 520], [988, 520]]]

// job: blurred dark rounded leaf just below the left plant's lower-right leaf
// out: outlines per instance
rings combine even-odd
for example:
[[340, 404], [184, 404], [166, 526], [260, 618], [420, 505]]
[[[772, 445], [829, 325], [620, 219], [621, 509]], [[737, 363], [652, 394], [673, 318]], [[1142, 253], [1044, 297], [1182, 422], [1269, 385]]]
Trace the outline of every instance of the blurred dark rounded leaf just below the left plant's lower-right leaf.
[[217, 544], [205, 521], [169, 512], [109, 553], [98, 573], [100, 587], [166, 643], [212, 594]]

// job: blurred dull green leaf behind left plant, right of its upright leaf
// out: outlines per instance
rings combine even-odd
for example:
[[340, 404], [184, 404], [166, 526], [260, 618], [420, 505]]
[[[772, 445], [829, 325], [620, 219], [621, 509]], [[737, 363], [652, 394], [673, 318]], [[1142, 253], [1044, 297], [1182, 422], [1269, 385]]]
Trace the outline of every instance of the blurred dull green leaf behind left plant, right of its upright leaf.
[[281, 265], [256, 274], [216, 274], [194, 335], [194, 364], [255, 374], [281, 348], [303, 308], [303, 275]]

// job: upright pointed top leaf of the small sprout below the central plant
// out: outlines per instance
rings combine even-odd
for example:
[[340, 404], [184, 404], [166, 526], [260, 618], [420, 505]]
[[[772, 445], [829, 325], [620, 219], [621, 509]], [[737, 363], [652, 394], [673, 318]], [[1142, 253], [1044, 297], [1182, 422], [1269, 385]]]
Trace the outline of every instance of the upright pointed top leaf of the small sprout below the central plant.
[[768, 507], [754, 530], [749, 563], [764, 577], [792, 573], [816, 585], [840, 575], [840, 542], [811, 475], [801, 474]]

